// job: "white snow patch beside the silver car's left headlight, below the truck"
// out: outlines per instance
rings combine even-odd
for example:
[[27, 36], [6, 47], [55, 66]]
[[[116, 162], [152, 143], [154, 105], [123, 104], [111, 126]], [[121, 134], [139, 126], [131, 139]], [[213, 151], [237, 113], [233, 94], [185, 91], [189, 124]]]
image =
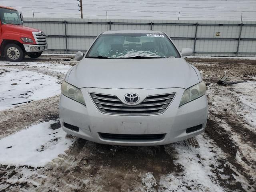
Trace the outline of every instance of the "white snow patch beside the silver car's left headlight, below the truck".
[[33, 71], [0, 68], [0, 110], [60, 94], [58, 79]]

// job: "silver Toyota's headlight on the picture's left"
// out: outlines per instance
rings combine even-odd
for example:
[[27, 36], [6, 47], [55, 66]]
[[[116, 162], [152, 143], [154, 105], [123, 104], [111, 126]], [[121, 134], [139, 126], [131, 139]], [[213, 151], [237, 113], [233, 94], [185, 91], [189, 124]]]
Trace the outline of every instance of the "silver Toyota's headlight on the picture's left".
[[63, 81], [61, 84], [61, 93], [64, 94], [66, 97], [85, 105], [84, 97], [81, 90], [73, 85], [68, 84], [65, 81]]

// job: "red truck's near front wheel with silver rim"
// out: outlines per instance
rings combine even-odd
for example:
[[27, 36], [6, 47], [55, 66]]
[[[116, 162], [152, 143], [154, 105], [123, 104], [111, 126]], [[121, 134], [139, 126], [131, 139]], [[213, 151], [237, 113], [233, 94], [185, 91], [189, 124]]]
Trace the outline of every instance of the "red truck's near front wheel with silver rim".
[[19, 62], [24, 58], [22, 48], [16, 44], [8, 44], [4, 48], [4, 55], [8, 61]]

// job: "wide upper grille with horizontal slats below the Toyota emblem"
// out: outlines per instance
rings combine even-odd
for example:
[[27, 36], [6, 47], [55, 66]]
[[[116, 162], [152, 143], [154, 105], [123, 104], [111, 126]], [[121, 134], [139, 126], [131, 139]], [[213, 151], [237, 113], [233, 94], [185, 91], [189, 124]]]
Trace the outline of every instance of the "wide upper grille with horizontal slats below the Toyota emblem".
[[172, 102], [175, 93], [147, 96], [140, 104], [126, 105], [117, 96], [90, 93], [100, 112], [116, 115], [155, 115], [163, 113]]

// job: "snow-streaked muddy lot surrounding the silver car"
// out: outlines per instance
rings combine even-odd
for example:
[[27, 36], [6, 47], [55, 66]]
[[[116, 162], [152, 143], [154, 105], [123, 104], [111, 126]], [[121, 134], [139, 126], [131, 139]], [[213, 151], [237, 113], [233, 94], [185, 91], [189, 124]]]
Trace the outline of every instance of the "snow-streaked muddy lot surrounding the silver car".
[[[0, 192], [256, 191], [256, 60], [186, 60], [200, 70], [207, 84], [209, 115], [203, 134], [166, 146], [96, 144], [61, 135], [59, 95], [33, 99], [0, 111], [0, 145], [1, 140], [8, 142], [10, 137], [14, 143], [0, 148]], [[59, 84], [74, 64], [70, 56], [27, 58], [17, 65], [0, 58], [0, 79], [16, 71], [36, 72], [42, 78], [55, 78], [54, 83]], [[228, 81], [247, 82], [218, 85], [216, 82], [224, 75]], [[18, 147], [15, 143], [22, 131], [41, 125], [46, 127], [49, 139], [44, 143], [36, 140], [34, 145], [39, 148], [31, 152], [26, 148], [16, 150], [20, 159], [15, 159], [8, 150]], [[33, 137], [23, 137], [21, 145], [28, 140]], [[32, 157], [40, 161], [50, 154], [47, 151], [54, 153], [61, 142], [67, 146], [65, 153], [60, 152], [44, 166], [32, 158], [22, 159], [22, 154], [34, 154]]]

